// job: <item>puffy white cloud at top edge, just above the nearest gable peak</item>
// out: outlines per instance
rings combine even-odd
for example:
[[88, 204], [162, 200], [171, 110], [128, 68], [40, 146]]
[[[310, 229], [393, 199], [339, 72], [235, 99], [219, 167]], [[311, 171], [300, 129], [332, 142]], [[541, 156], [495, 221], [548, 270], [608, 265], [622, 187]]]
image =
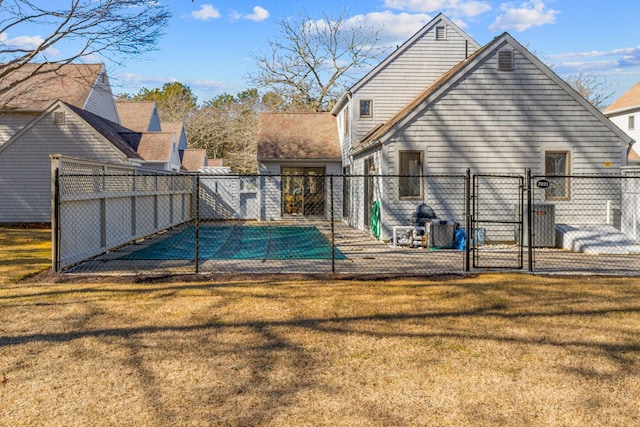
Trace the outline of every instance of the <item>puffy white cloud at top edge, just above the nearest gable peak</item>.
[[501, 7], [504, 14], [498, 16], [489, 26], [491, 31], [524, 31], [532, 27], [556, 22], [557, 10], [547, 9], [543, 0], [531, 0], [514, 6], [505, 3]]

